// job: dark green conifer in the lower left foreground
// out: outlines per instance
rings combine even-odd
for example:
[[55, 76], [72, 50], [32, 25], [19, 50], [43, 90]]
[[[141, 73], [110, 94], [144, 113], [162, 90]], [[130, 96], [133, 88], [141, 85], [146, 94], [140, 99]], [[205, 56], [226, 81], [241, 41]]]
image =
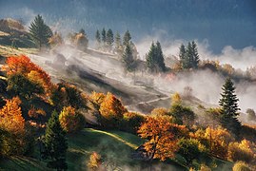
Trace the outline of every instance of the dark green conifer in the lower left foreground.
[[44, 150], [42, 151], [42, 157], [43, 159], [49, 160], [48, 167], [57, 170], [67, 170], [66, 152], [68, 143], [66, 140], [66, 132], [61, 127], [56, 111], [52, 112], [49, 122], [47, 123], [43, 144]]

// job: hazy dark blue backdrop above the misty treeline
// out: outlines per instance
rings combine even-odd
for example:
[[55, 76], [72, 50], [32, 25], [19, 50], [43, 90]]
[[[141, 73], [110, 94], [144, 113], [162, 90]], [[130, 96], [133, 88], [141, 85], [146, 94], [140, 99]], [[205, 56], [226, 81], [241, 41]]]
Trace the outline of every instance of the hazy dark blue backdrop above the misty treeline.
[[147, 35], [162, 39], [208, 40], [219, 53], [229, 45], [256, 47], [255, 0], [0, 0], [0, 18], [40, 13], [64, 31], [85, 28], [129, 29], [136, 42]]

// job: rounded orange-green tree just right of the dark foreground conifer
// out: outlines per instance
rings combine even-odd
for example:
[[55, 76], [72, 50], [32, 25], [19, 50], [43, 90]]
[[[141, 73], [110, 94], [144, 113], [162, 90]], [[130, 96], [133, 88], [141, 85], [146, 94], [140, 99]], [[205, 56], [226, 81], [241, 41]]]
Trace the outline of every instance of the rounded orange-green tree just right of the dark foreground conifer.
[[59, 116], [59, 121], [62, 128], [67, 132], [77, 132], [85, 126], [84, 116], [75, 111], [75, 108], [71, 106], [63, 108]]

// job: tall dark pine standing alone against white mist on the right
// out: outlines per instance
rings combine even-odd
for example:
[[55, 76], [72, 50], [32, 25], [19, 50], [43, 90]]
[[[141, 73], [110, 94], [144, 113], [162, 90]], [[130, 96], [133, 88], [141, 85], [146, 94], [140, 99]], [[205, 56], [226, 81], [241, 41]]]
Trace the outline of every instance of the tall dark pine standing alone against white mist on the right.
[[239, 110], [238, 98], [235, 94], [235, 86], [230, 78], [226, 79], [225, 84], [222, 87], [222, 98], [219, 101], [221, 106], [220, 121], [222, 125], [234, 135], [239, 133], [241, 123], [238, 121]]

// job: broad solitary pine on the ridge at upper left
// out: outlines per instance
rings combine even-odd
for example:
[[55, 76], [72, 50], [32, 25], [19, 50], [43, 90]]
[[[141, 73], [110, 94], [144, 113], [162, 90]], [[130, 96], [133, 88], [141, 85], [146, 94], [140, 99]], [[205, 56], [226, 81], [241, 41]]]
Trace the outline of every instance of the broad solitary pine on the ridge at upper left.
[[34, 21], [30, 24], [30, 36], [34, 43], [41, 49], [42, 46], [48, 46], [49, 38], [52, 36], [52, 31], [47, 26], [41, 15], [37, 15]]

